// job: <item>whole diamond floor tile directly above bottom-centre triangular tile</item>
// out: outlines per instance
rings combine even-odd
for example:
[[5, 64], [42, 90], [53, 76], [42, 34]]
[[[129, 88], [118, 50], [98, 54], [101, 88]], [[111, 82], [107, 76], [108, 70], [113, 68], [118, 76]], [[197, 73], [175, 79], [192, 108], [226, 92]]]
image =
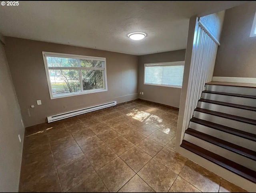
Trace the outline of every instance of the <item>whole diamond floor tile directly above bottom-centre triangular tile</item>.
[[133, 146], [121, 156], [119, 156], [124, 162], [129, 165], [136, 173], [152, 159], [150, 155], [142, 151], [137, 146]]

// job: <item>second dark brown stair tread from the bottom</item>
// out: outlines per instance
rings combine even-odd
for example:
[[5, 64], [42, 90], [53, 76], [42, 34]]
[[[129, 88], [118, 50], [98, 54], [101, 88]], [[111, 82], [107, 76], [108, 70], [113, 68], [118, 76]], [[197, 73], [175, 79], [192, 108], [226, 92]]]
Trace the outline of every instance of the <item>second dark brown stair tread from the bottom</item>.
[[211, 144], [214, 144], [216, 146], [219, 146], [221, 148], [224, 148], [226, 150], [230, 150], [231, 152], [234, 152], [236, 154], [240, 154], [241, 156], [244, 156], [246, 158], [250, 158], [251, 160], [256, 161], [256, 152], [254, 152], [252, 150], [246, 149], [246, 148], [238, 146], [236, 144], [232, 144], [230, 142], [221, 140], [219, 138], [210, 136], [208, 134], [199, 132], [199, 131], [191, 129], [191, 128], [188, 128], [185, 131], [185, 133], [189, 134], [191, 136], [194, 136], [196, 138], [199, 138], [201, 140], [204, 140], [206, 142], [209, 142]]

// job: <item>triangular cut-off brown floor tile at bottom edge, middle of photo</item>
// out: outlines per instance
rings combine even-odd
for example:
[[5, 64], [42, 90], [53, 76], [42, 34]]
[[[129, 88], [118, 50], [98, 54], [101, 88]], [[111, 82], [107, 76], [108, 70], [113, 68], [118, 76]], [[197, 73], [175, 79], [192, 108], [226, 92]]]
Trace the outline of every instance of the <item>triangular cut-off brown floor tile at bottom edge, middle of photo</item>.
[[155, 192], [137, 174], [132, 177], [118, 192]]

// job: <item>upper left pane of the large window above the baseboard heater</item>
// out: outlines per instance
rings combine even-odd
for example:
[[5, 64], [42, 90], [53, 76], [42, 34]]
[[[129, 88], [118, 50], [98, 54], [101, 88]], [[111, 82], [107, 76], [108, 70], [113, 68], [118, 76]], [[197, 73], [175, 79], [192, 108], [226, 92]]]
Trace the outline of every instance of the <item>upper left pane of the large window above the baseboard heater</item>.
[[62, 57], [46, 57], [48, 67], [78, 67], [78, 59]]

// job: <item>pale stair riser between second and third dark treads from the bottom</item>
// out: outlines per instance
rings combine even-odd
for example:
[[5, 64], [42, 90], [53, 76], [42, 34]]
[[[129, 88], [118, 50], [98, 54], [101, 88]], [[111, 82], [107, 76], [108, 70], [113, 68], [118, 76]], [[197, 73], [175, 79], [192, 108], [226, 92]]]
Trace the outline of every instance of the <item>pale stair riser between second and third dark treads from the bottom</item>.
[[256, 152], [256, 142], [252, 141], [252, 140], [248, 140], [233, 134], [229, 134], [226, 132], [222, 132], [220, 130], [216, 130], [210, 127], [206, 127], [204, 125], [198, 124], [198, 123], [194, 123], [194, 122], [190, 122], [189, 124], [189, 128], [192, 128], [196, 131], [208, 134], [210, 136], [219, 138], [221, 140], [225, 140], [227, 142], [230, 142], [232, 144], [236, 144], [238, 146], [247, 148], [249, 150], [253, 150]]

